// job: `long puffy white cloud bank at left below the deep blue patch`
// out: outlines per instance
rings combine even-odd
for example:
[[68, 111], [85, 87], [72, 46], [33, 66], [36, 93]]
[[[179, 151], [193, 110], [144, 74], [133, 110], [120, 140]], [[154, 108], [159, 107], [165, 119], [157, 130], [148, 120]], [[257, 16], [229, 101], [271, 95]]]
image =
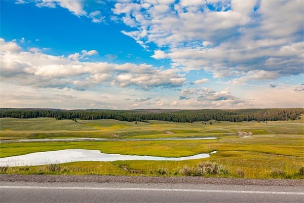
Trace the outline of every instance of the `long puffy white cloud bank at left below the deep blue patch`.
[[65, 57], [48, 55], [37, 48], [23, 51], [16, 42], [6, 42], [4, 39], [0, 39], [0, 43], [3, 82], [13, 81], [36, 88], [87, 90], [103, 84], [148, 90], [155, 87], [179, 87], [186, 81], [184, 75], [175, 70], [163, 70], [147, 64], [79, 60], [97, 54], [96, 50], [83, 50]]

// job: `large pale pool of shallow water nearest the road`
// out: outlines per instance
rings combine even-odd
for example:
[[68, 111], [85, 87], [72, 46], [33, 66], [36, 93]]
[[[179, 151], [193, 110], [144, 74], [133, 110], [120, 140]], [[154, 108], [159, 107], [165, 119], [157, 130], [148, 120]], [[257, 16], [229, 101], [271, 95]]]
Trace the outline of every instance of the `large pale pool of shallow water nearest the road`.
[[[216, 151], [211, 152], [211, 154]], [[65, 149], [49, 152], [36, 152], [20, 156], [0, 158], [0, 166], [43, 165], [52, 163], [67, 163], [75, 161], [118, 161], [118, 160], [167, 160], [181, 161], [210, 157], [209, 154], [196, 154], [185, 157], [137, 156], [121, 154], [105, 154], [99, 150]]]

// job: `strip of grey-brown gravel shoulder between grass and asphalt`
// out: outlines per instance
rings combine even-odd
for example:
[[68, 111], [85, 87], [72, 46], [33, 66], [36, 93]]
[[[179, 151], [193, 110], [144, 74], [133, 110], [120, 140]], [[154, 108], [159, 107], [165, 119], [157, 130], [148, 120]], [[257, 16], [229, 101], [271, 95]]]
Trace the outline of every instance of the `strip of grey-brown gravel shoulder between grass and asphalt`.
[[144, 177], [144, 176], [51, 176], [51, 175], [0, 175], [0, 182], [92, 182], [92, 183], [170, 183], [216, 185], [304, 186], [304, 180], [287, 179], [233, 179], [204, 177]]

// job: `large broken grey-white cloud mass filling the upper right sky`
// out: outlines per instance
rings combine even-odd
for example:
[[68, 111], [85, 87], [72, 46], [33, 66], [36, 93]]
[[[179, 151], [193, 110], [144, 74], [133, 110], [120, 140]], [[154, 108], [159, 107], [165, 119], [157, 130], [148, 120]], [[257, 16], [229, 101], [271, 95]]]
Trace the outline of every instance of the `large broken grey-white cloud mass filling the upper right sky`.
[[151, 57], [170, 59], [185, 72], [239, 78], [232, 81], [236, 84], [302, 73], [303, 6], [302, 1], [133, 1], [112, 11], [133, 28], [122, 33], [145, 49], [157, 45]]

